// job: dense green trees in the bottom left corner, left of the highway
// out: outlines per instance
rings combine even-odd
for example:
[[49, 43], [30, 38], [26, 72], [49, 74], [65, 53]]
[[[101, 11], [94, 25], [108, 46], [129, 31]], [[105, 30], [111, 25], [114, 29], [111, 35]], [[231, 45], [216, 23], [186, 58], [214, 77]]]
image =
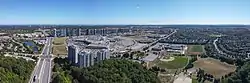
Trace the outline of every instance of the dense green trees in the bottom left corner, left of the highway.
[[0, 83], [28, 83], [34, 66], [33, 61], [0, 55]]

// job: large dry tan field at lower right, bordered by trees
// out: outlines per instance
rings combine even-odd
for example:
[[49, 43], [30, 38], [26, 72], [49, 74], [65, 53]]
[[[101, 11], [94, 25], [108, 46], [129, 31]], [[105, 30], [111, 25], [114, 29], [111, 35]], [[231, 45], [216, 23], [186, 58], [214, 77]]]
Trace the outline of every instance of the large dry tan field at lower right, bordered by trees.
[[201, 68], [206, 73], [212, 74], [217, 78], [236, 70], [236, 66], [229, 65], [212, 58], [199, 58], [196, 62], [194, 62], [194, 67]]

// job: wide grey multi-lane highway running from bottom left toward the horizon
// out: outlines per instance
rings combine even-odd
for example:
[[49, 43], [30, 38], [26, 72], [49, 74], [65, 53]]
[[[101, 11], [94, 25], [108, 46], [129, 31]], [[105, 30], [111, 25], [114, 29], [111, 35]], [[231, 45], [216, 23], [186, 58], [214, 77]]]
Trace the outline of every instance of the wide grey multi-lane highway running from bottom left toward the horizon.
[[[51, 77], [51, 46], [52, 38], [46, 38], [46, 44], [30, 77], [29, 83], [49, 83]], [[35, 79], [35, 80], [33, 80]]]

